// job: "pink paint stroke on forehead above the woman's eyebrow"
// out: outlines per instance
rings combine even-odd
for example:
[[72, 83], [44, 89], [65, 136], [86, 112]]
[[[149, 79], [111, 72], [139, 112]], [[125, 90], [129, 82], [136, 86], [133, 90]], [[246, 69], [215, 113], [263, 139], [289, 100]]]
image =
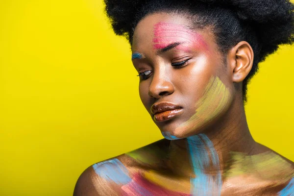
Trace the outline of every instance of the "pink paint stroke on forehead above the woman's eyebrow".
[[[192, 48], [208, 51], [208, 45], [203, 37], [185, 25], [159, 22], [154, 25], [153, 32], [153, 49], [164, 49], [172, 43], [179, 42], [192, 44]], [[187, 47], [184, 44], [180, 44], [176, 48], [184, 51], [191, 50], [191, 47]]]

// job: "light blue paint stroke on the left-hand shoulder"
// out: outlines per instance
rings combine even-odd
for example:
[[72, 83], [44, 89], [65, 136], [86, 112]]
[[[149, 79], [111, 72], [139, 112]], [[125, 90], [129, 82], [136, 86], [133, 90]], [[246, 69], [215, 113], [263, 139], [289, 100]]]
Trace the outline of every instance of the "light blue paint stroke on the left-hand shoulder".
[[124, 185], [132, 180], [123, 163], [116, 158], [102, 161], [94, 164], [92, 167], [100, 177], [107, 181], [113, 181], [116, 184]]

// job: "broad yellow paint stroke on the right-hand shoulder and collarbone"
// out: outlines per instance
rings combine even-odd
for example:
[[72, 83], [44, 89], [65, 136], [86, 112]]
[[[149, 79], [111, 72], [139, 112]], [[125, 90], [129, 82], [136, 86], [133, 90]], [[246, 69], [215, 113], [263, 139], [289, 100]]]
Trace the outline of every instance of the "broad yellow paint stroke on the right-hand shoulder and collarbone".
[[259, 179], [274, 180], [281, 184], [294, 177], [294, 167], [274, 152], [246, 155], [241, 152], [230, 152], [225, 178], [239, 175], [255, 176]]

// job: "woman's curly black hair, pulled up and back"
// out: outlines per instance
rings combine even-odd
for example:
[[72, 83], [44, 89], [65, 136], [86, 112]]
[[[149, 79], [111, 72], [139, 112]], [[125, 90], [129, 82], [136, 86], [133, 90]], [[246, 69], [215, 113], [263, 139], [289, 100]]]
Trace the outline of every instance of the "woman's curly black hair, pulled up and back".
[[294, 4], [290, 0], [104, 0], [105, 12], [117, 35], [132, 43], [136, 25], [156, 12], [190, 16], [195, 28], [212, 26], [223, 54], [240, 41], [254, 51], [253, 67], [243, 81], [247, 84], [258, 71], [258, 63], [278, 49], [294, 42]]

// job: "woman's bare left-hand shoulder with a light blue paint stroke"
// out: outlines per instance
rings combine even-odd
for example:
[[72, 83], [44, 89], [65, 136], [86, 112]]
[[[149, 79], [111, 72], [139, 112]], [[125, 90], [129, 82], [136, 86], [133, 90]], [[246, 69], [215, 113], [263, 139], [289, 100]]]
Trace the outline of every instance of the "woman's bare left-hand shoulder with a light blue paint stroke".
[[[165, 140], [104, 160], [88, 167], [79, 176], [73, 196], [120, 196], [132, 174], [158, 166], [168, 143]], [[154, 163], [154, 164], [153, 164]]]

